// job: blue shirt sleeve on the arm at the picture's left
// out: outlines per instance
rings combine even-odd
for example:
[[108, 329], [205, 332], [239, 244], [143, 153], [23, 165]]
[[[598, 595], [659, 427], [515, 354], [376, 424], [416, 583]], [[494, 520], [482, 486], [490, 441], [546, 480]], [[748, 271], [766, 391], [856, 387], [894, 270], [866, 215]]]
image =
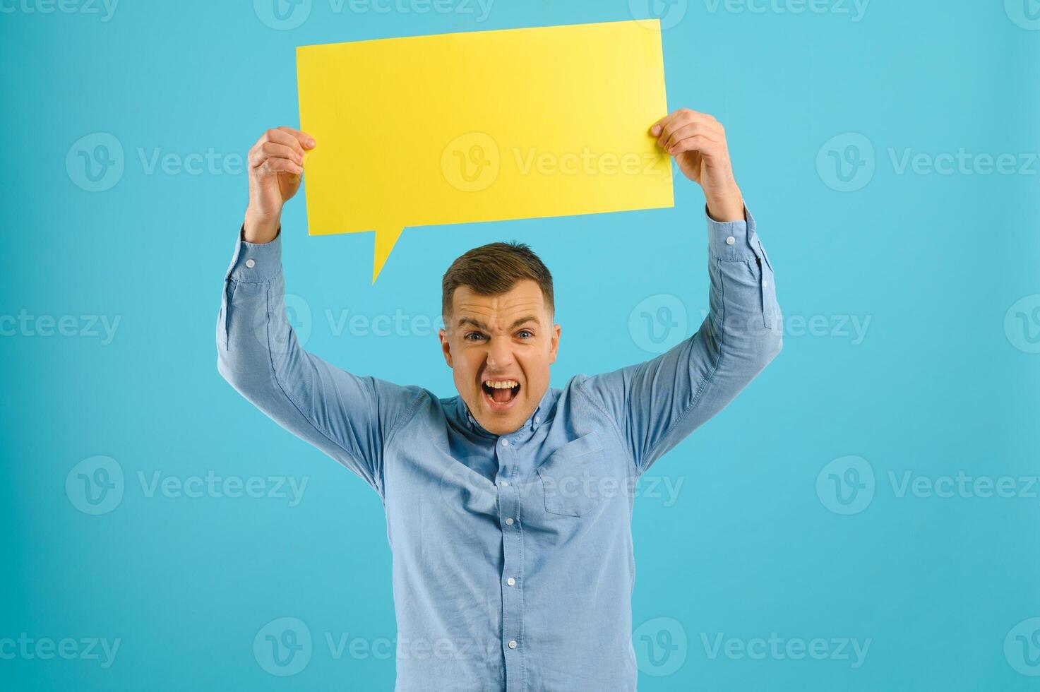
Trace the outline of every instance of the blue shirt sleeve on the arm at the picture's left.
[[383, 496], [383, 448], [423, 390], [330, 365], [301, 348], [285, 311], [281, 234], [235, 246], [216, 322], [217, 370], [280, 426]]

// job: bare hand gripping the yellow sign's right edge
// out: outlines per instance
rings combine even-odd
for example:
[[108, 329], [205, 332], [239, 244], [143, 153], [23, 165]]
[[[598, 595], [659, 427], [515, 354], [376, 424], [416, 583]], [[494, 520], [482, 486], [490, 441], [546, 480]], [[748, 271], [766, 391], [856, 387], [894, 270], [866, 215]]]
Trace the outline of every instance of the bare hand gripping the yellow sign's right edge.
[[650, 134], [675, 157], [682, 174], [701, 186], [716, 221], [744, 221], [744, 197], [733, 178], [726, 130], [712, 116], [679, 108], [653, 124]]

